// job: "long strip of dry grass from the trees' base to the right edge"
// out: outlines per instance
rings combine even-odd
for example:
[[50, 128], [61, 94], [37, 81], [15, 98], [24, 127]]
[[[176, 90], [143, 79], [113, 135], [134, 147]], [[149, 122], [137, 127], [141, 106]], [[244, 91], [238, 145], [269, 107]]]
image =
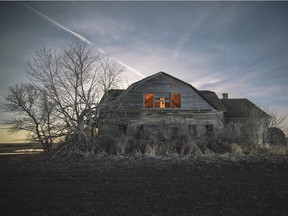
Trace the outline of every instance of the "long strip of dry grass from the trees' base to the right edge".
[[[84, 150], [83, 150], [84, 149]], [[249, 149], [245, 143], [229, 142], [221, 137], [203, 137], [190, 139], [186, 136], [171, 138], [145, 137], [136, 139], [133, 137], [121, 137], [115, 139], [109, 136], [102, 136], [93, 140], [90, 146], [74, 149], [62, 147], [57, 152], [58, 156], [80, 156], [84, 158], [99, 158], [105, 155], [117, 156], [243, 156], [257, 154], [288, 154], [288, 147], [265, 146], [256, 149]]]

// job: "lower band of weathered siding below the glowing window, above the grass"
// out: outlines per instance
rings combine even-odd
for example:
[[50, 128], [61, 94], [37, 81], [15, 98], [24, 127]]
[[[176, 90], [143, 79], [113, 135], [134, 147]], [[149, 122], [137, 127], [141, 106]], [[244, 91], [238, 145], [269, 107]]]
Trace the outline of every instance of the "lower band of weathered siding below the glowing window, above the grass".
[[189, 126], [195, 125], [197, 136], [205, 134], [206, 125], [213, 125], [214, 131], [221, 130], [224, 126], [222, 112], [192, 112], [192, 111], [145, 111], [145, 112], [117, 112], [110, 118], [110, 130], [113, 134], [119, 131], [119, 126], [127, 127], [126, 135], [133, 136], [139, 127], [147, 133], [149, 129], [161, 129], [162, 132], [170, 133], [178, 128], [179, 135], [188, 135]]

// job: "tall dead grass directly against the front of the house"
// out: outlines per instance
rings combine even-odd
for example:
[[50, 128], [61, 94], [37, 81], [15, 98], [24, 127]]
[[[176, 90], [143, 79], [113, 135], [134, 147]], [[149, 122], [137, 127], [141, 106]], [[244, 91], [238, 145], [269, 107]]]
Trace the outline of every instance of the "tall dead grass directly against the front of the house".
[[236, 143], [222, 142], [213, 138], [190, 139], [174, 137], [173, 139], [135, 139], [121, 137], [116, 140], [101, 137], [98, 142], [101, 150], [95, 153], [111, 155], [149, 155], [149, 156], [203, 156], [203, 155], [243, 155], [242, 147]]

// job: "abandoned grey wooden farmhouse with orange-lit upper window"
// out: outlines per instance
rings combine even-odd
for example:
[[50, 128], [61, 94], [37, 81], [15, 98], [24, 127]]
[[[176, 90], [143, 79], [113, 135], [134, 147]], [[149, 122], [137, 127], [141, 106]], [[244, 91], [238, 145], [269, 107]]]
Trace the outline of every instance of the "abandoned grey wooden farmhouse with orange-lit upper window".
[[[219, 99], [213, 91], [197, 90], [167, 73], [159, 72], [133, 83], [126, 90], [105, 93], [99, 114], [99, 132], [135, 136], [164, 132], [167, 136], [210, 135], [241, 125], [252, 113], [263, 123], [269, 118], [248, 99]], [[261, 140], [257, 140], [261, 142]]]

